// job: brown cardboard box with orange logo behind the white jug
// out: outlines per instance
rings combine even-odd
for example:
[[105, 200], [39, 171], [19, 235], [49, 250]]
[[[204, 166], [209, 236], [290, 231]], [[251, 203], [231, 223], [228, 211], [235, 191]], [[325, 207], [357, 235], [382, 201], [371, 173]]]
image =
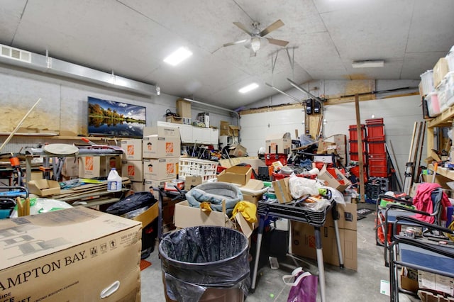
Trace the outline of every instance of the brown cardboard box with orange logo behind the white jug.
[[116, 168], [121, 174], [120, 156], [79, 157], [79, 178], [107, 177], [111, 168]]

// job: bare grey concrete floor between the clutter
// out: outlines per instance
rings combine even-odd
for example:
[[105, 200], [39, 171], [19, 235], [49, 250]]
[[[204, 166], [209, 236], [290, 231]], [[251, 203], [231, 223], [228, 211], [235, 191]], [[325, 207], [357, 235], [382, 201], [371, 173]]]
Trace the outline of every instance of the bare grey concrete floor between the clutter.
[[[375, 208], [368, 204], [362, 207], [367, 206]], [[358, 220], [358, 272], [325, 264], [326, 301], [389, 301], [389, 296], [380, 293], [380, 281], [389, 281], [389, 270], [384, 266], [383, 247], [375, 244], [374, 218], [375, 212]], [[152, 265], [141, 272], [143, 302], [165, 301], [157, 250], [156, 247], [155, 251], [146, 259]], [[289, 261], [289, 264], [292, 262]], [[308, 259], [304, 263], [301, 262], [300, 265], [304, 270], [317, 274], [316, 261]], [[292, 272], [292, 268], [284, 266], [279, 269], [262, 268], [259, 272], [260, 279], [255, 293], [250, 293], [245, 301], [286, 302], [290, 287], [283, 283], [282, 276], [289, 272]], [[419, 301], [418, 298], [402, 293], [399, 296], [400, 301]], [[317, 301], [321, 301], [320, 293]]]

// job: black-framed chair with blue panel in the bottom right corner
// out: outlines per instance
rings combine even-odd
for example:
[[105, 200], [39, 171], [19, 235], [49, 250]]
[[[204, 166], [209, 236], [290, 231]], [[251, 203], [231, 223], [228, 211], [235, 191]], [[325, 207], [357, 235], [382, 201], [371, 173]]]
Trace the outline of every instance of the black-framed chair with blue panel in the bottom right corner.
[[[414, 225], [423, 229], [421, 235], [397, 234], [397, 225]], [[389, 245], [390, 301], [399, 301], [398, 266], [454, 278], [454, 242], [444, 234], [454, 231], [408, 216], [397, 216]], [[444, 234], [443, 234], [444, 233]]]

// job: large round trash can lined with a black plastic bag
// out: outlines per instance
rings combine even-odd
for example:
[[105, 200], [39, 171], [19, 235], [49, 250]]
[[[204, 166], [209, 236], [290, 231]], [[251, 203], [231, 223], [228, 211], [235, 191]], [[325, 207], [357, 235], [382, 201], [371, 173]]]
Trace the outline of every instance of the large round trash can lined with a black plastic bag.
[[241, 302], [250, 287], [248, 238], [218, 226], [184, 228], [159, 245], [166, 301]]

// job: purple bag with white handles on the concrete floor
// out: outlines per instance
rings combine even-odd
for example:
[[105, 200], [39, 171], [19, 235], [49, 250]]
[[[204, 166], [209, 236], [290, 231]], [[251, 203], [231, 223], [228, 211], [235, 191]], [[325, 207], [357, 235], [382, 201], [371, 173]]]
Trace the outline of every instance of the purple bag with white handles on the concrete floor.
[[[294, 282], [289, 282], [291, 279], [294, 279]], [[282, 276], [282, 281], [292, 286], [287, 302], [316, 302], [319, 281], [317, 276], [298, 267], [291, 275]]]

